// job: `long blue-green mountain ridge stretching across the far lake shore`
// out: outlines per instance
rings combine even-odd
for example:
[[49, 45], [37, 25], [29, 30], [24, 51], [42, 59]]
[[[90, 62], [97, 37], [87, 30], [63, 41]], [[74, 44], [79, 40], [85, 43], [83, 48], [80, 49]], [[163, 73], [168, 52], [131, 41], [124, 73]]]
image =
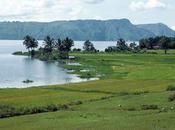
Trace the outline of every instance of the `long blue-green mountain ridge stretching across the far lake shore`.
[[[134, 25], [127, 19], [114, 20], [75, 20], [55, 22], [0, 22], [0, 39], [20, 40], [26, 35], [43, 39], [46, 35], [54, 38], [71, 37], [74, 40], [108, 41], [123, 38], [139, 40], [141, 38], [168, 35], [175, 32], [167, 26], [148, 27]], [[151, 28], [155, 28], [154, 31]]]

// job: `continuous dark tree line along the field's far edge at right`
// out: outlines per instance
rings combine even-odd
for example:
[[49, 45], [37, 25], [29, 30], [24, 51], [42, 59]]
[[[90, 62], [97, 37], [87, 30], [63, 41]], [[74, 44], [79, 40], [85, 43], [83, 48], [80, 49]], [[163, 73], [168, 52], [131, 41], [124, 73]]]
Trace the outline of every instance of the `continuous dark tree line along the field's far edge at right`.
[[135, 42], [127, 44], [124, 39], [119, 39], [116, 46], [110, 46], [105, 52], [141, 52], [142, 50], [162, 49], [167, 54], [168, 49], [175, 49], [175, 37], [157, 36], [144, 38], [139, 40], [139, 44]]

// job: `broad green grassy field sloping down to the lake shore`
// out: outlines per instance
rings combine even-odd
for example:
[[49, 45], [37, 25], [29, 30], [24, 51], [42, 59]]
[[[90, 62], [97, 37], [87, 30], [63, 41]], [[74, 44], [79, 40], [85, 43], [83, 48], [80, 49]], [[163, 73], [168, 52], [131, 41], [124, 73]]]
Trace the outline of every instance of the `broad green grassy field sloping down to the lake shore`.
[[0, 106], [68, 106], [56, 112], [0, 119], [0, 130], [175, 130], [175, 102], [168, 100], [175, 92], [166, 90], [175, 86], [175, 53], [157, 52], [74, 53], [81, 66], [63, 67], [82, 76], [100, 76], [100, 80], [0, 89]]

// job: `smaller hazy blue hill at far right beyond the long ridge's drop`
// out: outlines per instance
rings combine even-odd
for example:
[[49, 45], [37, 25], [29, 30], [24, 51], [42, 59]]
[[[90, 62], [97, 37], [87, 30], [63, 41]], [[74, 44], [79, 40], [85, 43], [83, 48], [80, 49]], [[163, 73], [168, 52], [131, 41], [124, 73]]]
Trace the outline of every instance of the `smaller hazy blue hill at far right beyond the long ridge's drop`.
[[170, 36], [170, 37], [175, 36], [175, 31], [169, 28], [167, 25], [162, 24], [162, 23], [140, 24], [140, 25], [137, 25], [137, 27], [150, 31], [154, 33], [156, 36], [160, 36], [160, 35]]

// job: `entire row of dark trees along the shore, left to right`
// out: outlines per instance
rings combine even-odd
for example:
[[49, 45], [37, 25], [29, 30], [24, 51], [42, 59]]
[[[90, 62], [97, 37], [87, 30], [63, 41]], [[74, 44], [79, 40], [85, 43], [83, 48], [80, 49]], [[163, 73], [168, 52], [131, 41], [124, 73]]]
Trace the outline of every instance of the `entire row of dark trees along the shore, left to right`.
[[[82, 52], [81, 49], [71, 49], [74, 46], [74, 41], [69, 37], [66, 37], [65, 39], [58, 38], [57, 40], [55, 40], [50, 36], [46, 36], [44, 38], [43, 47], [35, 50], [39, 46], [38, 41], [34, 37], [27, 35], [26, 37], [24, 37], [23, 44], [26, 46], [28, 54], [31, 57], [38, 57], [43, 60], [67, 59], [69, 58], [69, 52], [71, 51]], [[168, 49], [175, 49], [175, 38], [165, 36], [150, 37], [141, 39], [139, 41], [139, 44], [136, 44], [135, 42], [127, 44], [124, 39], [119, 39], [116, 46], [107, 47], [105, 49], [105, 52], [138, 53], [141, 52], [143, 49], [163, 49], [165, 50], [166, 54]], [[84, 42], [83, 51], [90, 53], [99, 52], [99, 50], [97, 50], [94, 47], [94, 44], [89, 40], [86, 40]]]

